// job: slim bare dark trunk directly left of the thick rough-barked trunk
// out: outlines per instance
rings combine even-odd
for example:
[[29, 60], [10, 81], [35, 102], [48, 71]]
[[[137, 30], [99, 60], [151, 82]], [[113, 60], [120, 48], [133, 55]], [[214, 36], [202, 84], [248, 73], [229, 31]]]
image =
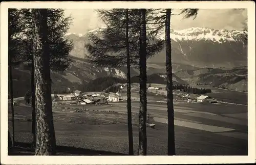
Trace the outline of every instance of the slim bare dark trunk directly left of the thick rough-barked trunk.
[[35, 74], [34, 74], [34, 61], [32, 60], [32, 66], [31, 66], [31, 113], [32, 113], [32, 129], [31, 133], [33, 136], [32, 140], [32, 148], [35, 147], [35, 139], [36, 139], [36, 113], [35, 113]]

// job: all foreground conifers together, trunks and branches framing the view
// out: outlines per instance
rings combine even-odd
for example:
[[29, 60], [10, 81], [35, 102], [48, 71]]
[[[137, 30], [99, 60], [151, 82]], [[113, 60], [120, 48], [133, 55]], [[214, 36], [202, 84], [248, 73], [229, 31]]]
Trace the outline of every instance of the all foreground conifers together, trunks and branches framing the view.
[[[195, 17], [198, 9], [182, 9], [185, 18]], [[102, 36], [91, 34], [85, 45], [89, 60], [97, 66], [127, 67], [127, 128], [129, 155], [134, 155], [131, 111], [130, 67], [139, 67], [140, 110], [138, 154], [147, 154], [146, 60], [166, 49], [166, 90], [168, 115], [168, 155], [175, 155], [172, 47], [170, 16], [172, 9], [98, 10], [106, 28]], [[179, 15], [178, 14], [178, 15]], [[9, 79], [14, 139], [12, 67], [24, 63], [31, 71], [32, 147], [35, 155], [55, 155], [56, 137], [51, 99], [52, 70], [65, 71], [73, 45], [65, 38], [71, 18], [62, 9], [9, 9]], [[157, 36], [164, 31], [164, 39]]]

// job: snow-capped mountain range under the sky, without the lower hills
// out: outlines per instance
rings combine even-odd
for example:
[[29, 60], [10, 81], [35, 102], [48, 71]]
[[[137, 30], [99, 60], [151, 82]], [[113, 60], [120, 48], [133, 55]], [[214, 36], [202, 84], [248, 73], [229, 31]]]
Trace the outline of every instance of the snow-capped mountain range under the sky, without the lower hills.
[[[105, 27], [86, 34], [67, 34], [74, 42], [71, 56], [86, 58], [84, 44], [89, 42], [89, 34], [100, 35]], [[247, 65], [247, 45], [245, 31], [215, 30], [209, 28], [188, 28], [171, 30], [172, 61], [197, 67], [236, 67]], [[164, 39], [164, 31], [157, 36]], [[150, 63], [164, 63], [165, 48], [148, 59]]]

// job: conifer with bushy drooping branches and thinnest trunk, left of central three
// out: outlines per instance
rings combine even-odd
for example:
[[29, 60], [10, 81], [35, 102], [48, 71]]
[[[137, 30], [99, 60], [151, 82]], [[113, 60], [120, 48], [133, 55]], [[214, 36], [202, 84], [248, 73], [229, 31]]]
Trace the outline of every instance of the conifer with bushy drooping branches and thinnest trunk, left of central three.
[[[97, 66], [127, 68], [127, 121], [129, 133], [129, 155], [133, 155], [131, 74], [130, 66], [138, 67], [140, 58], [140, 20], [138, 9], [98, 10], [106, 27], [100, 34], [89, 34], [90, 43], [85, 47], [90, 61]], [[152, 36], [146, 36], [148, 39]], [[152, 37], [153, 38], [153, 37]], [[163, 48], [163, 41], [155, 39], [148, 43], [146, 58]]]

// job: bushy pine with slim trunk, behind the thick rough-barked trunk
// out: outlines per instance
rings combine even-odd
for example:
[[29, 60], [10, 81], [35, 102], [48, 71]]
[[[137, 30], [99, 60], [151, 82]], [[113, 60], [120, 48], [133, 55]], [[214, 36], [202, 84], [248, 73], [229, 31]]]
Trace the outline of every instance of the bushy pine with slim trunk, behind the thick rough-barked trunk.
[[[35, 82], [34, 82], [34, 61], [32, 53], [32, 13], [29, 9], [22, 9], [22, 16], [25, 20], [26, 31], [24, 35], [24, 47], [27, 50], [26, 63], [31, 70], [31, 111], [32, 111], [32, 134], [35, 144]], [[65, 37], [72, 23], [71, 17], [64, 15], [63, 9], [47, 9], [47, 26], [49, 41], [50, 69], [52, 71], [64, 71], [70, 65], [69, 52], [73, 48], [73, 43]]]

